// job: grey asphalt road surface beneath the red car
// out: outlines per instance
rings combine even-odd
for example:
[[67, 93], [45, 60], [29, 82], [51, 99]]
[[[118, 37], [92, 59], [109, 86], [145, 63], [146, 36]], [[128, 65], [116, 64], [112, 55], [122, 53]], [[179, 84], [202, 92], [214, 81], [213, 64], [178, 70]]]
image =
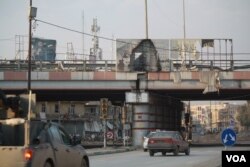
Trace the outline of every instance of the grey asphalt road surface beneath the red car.
[[[221, 151], [224, 147], [191, 148], [189, 156], [180, 153], [173, 156], [161, 153], [150, 157], [148, 152], [136, 150], [125, 153], [98, 155], [90, 157], [91, 167], [218, 167], [221, 165]], [[234, 147], [233, 150], [244, 150], [248, 147]]]

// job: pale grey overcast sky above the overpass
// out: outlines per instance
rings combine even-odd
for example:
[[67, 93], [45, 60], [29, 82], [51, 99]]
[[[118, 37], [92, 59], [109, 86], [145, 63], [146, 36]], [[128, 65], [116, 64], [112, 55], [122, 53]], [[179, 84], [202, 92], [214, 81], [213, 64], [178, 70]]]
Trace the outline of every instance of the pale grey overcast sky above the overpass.
[[[149, 38], [183, 38], [183, 0], [148, 0]], [[100, 36], [145, 38], [144, 0], [33, 0], [37, 19], [91, 33], [98, 19]], [[0, 0], [0, 59], [15, 57], [15, 35], [28, 34], [29, 0]], [[249, 0], [185, 0], [187, 38], [232, 38], [234, 52], [250, 53]], [[84, 13], [84, 19], [83, 19]], [[84, 20], [84, 21], [83, 21]], [[81, 34], [44, 23], [33, 30], [35, 37], [57, 40], [57, 52], [66, 53], [67, 43], [83, 52]], [[27, 37], [24, 49], [27, 50]], [[84, 53], [91, 39], [84, 38]], [[104, 59], [112, 59], [112, 42], [100, 40]], [[237, 59], [235, 57], [234, 59]]]

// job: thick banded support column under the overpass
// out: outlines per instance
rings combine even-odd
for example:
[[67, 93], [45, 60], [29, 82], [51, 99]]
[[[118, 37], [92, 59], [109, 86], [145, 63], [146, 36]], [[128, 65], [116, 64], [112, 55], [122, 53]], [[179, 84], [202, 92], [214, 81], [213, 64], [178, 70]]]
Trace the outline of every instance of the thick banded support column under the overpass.
[[143, 137], [154, 130], [180, 130], [183, 103], [152, 96], [149, 103], [131, 104], [133, 109], [133, 145], [142, 146]]

